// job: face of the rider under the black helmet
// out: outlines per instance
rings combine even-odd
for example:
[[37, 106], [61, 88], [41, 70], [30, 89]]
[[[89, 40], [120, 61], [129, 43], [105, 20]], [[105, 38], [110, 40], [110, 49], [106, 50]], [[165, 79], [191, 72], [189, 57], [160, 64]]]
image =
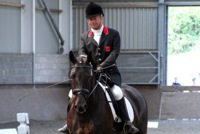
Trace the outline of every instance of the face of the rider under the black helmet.
[[102, 20], [103, 20], [103, 17], [101, 15], [96, 15], [96, 16], [92, 16], [88, 18], [87, 22], [91, 28], [98, 30], [102, 26]]

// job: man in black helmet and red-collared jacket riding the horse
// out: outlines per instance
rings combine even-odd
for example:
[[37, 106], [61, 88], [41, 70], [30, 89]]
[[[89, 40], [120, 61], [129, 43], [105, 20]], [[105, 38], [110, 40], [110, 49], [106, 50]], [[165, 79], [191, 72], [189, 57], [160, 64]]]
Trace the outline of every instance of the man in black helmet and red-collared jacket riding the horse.
[[[103, 25], [104, 13], [100, 5], [90, 2], [86, 7], [85, 13], [88, 25], [91, 29], [81, 35], [78, 55], [87, 59], [90, 53], [92, 60], [90, 62], [94, 69], [99, 73], [103, 71], [111, 79], [108, 85], [119, 106], [120, 116], [124, 122], [124, 130], [126, 133], [136, 133], [139, 130], [129, 119], [124, 95], [120, 88], [121, 75], [116, 66], [116, 59], [120, 53], [120, 35], [118, 31]], [[103, 69], [111, 65], [114, 66]], [[58, 131], [65, 132], [66, 130], [67, 125], [65, 124], [64, 127], [60, 128]]]

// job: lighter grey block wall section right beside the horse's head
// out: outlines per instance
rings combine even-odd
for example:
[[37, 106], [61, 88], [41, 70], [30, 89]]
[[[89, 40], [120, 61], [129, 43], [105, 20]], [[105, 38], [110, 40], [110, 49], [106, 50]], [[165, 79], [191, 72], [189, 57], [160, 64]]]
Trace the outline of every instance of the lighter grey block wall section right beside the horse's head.
[[35, 55], [35, 83], [55, 83], [68, 79], [67, 55]]

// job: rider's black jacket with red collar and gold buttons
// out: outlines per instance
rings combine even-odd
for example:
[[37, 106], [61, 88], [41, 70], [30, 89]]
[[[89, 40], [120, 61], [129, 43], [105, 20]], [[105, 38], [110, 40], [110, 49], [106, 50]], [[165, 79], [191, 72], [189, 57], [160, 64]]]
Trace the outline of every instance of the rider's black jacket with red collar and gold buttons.
[[116, 65], [121, 44], [118, 31], [104, 26], [99, 45], [93, 36], [92, 30], [81, 35], [78, 54], [87, 56], [90, 54], [91, 62], [95, 68], [97, 66], [107, 67], [115, 64], [115, 66], [105, 69], [104, 72], [116, 85], [121, 86], [121, 75]]

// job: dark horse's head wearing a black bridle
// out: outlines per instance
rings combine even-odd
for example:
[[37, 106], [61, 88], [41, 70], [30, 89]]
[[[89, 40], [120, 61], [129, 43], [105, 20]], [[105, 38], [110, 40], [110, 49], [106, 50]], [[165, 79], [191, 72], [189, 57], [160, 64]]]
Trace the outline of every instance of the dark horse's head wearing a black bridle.
[[83, 57], [75, 58], [73, 52], [70, 51], [69, 58], [72, 62], [69, 77], [75, 96], [75, 109], [78, 113], [84, 113], [87, 109], [87, 99], [91, 95], [95, 83], [93, 67], [88, 62], [89, 56], [87, 59]]

